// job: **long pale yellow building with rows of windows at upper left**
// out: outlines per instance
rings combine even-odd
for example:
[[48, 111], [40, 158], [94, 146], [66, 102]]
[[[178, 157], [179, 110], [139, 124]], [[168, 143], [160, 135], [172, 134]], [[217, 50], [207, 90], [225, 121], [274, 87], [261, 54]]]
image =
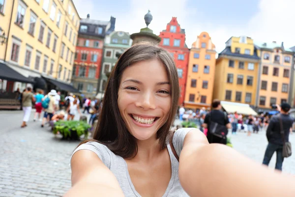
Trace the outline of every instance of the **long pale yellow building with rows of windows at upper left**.
[[[80, 23], [73, 1], [0, 2], [0, 26], [7, 36], [7, 43], [0, 45], [0, 61], [25, 77], [45, 79], [47, 89], [70, 91]], [[25, 86], [14, 82], [13, 90]]]

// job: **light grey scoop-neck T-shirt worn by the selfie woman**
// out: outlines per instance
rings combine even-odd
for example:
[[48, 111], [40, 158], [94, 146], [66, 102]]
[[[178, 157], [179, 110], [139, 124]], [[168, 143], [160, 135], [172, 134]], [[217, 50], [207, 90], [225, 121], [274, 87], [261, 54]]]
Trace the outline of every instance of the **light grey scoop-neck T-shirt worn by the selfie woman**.
[[[188, 133], [188, 131], [191, 131], [192, 129], [194, 128], [182, 128], [182, 129], [178, 129], [174, 133], [173, 145], [178, 157], [182, 150], [184, 137]], [[185, 191], [183, 190], [179, 182], [179, 178], [178, 178], [179, 163], [176, 157], [174, 156], [169, 144], [167, 145], [167, 147], [168, 147], [170, 160], [171, 160], [172, 176], [163, 197], [189, 197], [188, 194], [185, 193]], [[82, 144], [74, 151], [74, 153], [76, 153], [79, 150], [90, 150], [94, 152], [101, 159], [101, 161], [116, 176], [125, 197], [141, 197], [140, 194], [135, 190], [134, 185], [132, 184], [131, 178], [129, 176], [127, 164], [122, 157], [115, 155], [105, 145], [100, 144], [98, 142], [88, 142], [88, 143]]]

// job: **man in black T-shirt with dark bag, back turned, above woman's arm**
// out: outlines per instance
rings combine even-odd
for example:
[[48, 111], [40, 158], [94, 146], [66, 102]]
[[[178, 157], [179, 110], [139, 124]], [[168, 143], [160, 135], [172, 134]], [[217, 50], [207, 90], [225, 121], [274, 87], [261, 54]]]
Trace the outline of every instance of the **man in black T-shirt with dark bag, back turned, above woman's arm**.
[[207, 113], [203, 124], [203, 127], [208, 129], [208, 142], [226, 144], [226, 135], [228, 134], [228, 129], [231, 129], [231, 123], [227, 114], [221, 111], [220, 100], [214, 99], [212, 108], [212, 111]]

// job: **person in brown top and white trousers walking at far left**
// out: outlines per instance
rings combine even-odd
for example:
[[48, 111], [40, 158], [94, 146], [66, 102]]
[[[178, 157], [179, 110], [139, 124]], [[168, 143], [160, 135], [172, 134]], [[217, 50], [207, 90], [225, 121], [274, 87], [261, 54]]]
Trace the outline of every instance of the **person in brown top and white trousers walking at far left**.
[[32, 110], [32, 102], [35, 100], [34, 95], [31, 92], [32, 89], [30, 87], [27, 88], [26, 91], [23, 92], [23, 111], [24, 111], [24, 118], [22, 128], [27, 127], [27, 122], [29, 121], [30, 112]]

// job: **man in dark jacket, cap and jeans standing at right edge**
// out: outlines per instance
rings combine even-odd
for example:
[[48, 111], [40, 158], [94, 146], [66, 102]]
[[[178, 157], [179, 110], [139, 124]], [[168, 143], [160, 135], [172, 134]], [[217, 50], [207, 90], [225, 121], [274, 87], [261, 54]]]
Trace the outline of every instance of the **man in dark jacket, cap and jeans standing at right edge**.
[[269, 125], [266, 130], [268, 145], [266, 148], [265, 157], [263, 159], [263, 164], [268, 165], [273, 153], [276, 151], [277, 158], [276, 158], [275, 169], [282, 170], [284, 158], [283, 158], [283, 139], [282, 139], [282, 134], [280, 132], [281, 131], [280, 119], [282, 120], [286, 142], [289, 141], [290, 128], [292, 127], [294, 119], [291, 118], [289, 115], [289, 110], [291, 106], [288, 103], [282, 103], [281, 107], [278, 105], [277, 108], [280, 111], [280, 113], [278, 115], [274, 115], [271, 117], [269, 121]]

